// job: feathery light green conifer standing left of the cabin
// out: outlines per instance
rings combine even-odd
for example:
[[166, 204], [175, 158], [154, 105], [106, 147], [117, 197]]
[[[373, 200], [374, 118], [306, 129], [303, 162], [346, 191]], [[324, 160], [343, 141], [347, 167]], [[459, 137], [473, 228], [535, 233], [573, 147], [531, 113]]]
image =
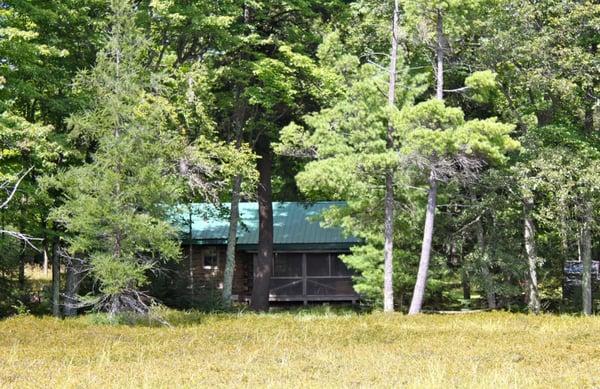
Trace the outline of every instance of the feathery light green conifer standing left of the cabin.
[[173, 109], [142, 65], [147, 41], [128, 1], [112, 4], [110, 39], [77, 86], [90, 106], [70, 118], [72, 137], [95, 144], [91, 162], [57, 177], [64, 204], [52, 218], [64, 226], [74, 256], [89, 259], [99, 301], [111, 312], [137, 293], [147, 271], [179, 257], [168, 209], [181, 198], [182, 137], [169, 125]]

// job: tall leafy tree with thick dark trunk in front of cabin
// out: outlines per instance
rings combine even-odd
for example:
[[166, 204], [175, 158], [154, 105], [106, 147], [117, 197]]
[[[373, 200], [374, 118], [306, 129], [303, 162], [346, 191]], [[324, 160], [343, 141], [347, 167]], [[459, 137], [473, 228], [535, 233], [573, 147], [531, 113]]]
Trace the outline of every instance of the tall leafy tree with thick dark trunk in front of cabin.
[[[251, 144], [262, 160], [273, 162], [270, 168], [257, 163], [261, 181], [270, 181], [271, 175], [278, 174], [280, 162], [280, 157], [271, 155], [271, 143], [282, 127], [312, 111], [324, 98], [312, 58], [320, 39], [317, 26], [343, 9], [343, 4], [297, 0], [148, 4], [152, 16], [148, 23], [161, 42], [153, 50], [156, 61], [173, 52], [178, 64], [201, 63], [210, 69], [211, 93], [219, 102], [211, 113], [221, 137], [235, 142], [241, 124], [243, 142]], [[267, 186], [259, 189], [256, 195], [264, 198], [259, 201], [261, 236], [268, 239], [270, 210], [264, 207], [271, 199]], [[277, 195], [279, 188], [273, 190]], [[261, 244], [272, 246], [267, 241]], [[271, 251], [272, 247], [261, 252]], [[272, 260], [263, 258], [261, 263], [268, 266]], [[268, 283], [268, 277], [264, 280]], [[268, 286], [257, 290], [267, 293]], [[255, 297], [261, 302], [255, 308], [264, 309], [268, 296]]]

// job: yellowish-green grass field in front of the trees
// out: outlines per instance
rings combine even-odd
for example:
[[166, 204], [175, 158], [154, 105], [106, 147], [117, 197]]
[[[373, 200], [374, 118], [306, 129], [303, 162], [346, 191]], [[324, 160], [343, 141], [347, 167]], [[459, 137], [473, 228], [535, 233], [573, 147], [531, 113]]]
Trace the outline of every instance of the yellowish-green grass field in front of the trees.
[[600, 387], [600, 317], [168, 316], [1, 321], [0, 387]]

